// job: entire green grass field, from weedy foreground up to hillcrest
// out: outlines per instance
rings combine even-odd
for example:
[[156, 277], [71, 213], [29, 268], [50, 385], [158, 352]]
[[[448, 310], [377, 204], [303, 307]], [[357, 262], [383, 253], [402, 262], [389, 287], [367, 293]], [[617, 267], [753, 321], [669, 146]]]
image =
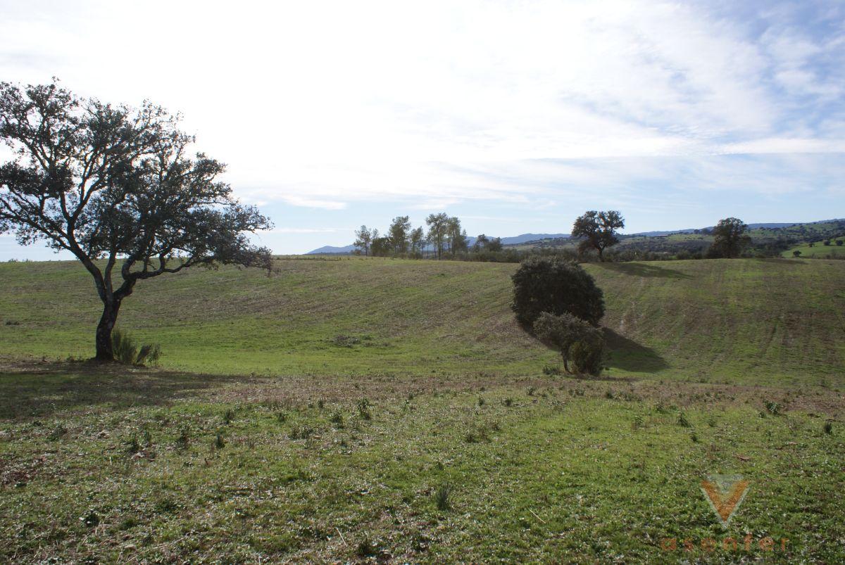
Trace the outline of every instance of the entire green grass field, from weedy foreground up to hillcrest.
[[588, 380], [543, 374], [515, 265], [277, 267], [139, 285], [147, 369], [66, 360], [77, 265], [0, 264], [0, 562], [845, 560], [845, 262], [587, 265]]

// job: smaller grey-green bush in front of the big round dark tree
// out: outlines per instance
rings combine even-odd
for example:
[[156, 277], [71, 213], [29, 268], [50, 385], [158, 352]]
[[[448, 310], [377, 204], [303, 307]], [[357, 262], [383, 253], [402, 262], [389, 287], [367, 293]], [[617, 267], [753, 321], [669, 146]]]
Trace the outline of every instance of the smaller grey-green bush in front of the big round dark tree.
[[604, 351], [601, 330], [566, 312], [559, 316], [542, 312], [533, 330], [537, 339], [559, 351], [566, 372], [570, 372], [570, 361], [575, 361], [575, 372], [601, 371]]

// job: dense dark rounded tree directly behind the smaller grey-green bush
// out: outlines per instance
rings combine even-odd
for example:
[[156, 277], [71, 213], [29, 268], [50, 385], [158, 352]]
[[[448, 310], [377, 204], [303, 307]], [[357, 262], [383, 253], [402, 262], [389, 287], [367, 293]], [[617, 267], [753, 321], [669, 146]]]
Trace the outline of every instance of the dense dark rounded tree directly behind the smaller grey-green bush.
[[592, 325], [604, 316], [604, 296], [580, 265], [557, 258], [527, 258], [511, 277], [516, 319], [531, 328], [542, 312], [570, 313]]

